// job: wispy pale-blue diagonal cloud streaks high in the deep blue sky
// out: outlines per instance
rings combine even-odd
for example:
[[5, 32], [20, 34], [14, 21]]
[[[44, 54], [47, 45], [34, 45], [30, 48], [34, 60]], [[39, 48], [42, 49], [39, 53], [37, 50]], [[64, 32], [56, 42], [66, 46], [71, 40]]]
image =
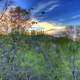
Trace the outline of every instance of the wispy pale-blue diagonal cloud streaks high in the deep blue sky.
[[58, 5], [54, 5], [56, 4], [57, 1], [50, 1], [50, 2], [47, 2], [47, 3], [39, 3], [37, 6], [36, 6], [36, 9], [32, 11], [33, 14], [36, 14], [36, 13], [39, 13], [41, 10], [45, 10], [45, 8], [47, 8], [48, 6], [52, 5], [48, 11], [51, 11], [54, 7], [57, 7]]

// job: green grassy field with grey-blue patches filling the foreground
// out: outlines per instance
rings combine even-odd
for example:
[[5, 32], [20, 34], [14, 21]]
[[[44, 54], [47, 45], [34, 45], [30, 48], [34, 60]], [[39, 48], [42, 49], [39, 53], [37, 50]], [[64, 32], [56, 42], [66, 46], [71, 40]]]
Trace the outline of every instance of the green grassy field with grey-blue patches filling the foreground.
[[0, 80], [80, 80], [80, 42], [47, 35], [0, 36]]

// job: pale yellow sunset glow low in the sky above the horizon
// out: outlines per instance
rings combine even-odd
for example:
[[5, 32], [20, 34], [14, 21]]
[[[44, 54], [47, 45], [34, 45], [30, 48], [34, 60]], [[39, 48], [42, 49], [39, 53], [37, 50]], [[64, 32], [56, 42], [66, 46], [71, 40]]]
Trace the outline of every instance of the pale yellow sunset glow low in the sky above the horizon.
[[55, 34], [57, 32], [66, 31], [66, 26], [54, 25], [48, 22], [38, 22], [37, 24], [34, 24], [33, 26], [43, 28], [44, 32], [49, 35]]

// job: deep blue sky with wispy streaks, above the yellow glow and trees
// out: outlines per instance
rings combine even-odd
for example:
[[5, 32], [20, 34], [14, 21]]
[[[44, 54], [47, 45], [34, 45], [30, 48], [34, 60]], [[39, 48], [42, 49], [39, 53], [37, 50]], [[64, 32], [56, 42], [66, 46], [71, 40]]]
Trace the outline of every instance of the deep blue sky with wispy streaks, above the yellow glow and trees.
[[[32, 9], [40, 21], [59, 24], [80, 24], [80, 0], [13, 0], [15, 5]], [[41, 12], [45, 14], [41, 15]]]

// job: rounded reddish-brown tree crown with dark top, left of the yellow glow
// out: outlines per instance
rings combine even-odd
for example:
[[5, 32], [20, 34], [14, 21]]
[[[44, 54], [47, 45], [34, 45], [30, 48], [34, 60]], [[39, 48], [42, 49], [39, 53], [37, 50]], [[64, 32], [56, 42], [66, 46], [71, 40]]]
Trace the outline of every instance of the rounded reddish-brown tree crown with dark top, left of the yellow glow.
[[31, 27], [31, 15], [28, 10], [24, 10], [21, 7], [16, 7], [12, 14], [12, 19], [14, 18], [14, 23], [16, 24], [16, 28], [18, 31], [25, 30], [26, 27]]

